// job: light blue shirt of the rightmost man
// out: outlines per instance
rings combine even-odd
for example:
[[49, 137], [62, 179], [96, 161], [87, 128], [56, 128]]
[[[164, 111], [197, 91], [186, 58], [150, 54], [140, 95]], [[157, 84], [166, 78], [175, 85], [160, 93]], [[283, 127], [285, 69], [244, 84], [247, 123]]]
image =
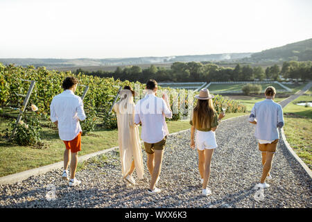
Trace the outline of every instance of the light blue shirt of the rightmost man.
[[254, 136], [257, 139], [272, 141], [279, 139], [277, 128], [284, 126], [283, 110], [281, 105], [265, 99], [255, 103], [250, 113], [249, 121], [257, 119], [256, 132]]

